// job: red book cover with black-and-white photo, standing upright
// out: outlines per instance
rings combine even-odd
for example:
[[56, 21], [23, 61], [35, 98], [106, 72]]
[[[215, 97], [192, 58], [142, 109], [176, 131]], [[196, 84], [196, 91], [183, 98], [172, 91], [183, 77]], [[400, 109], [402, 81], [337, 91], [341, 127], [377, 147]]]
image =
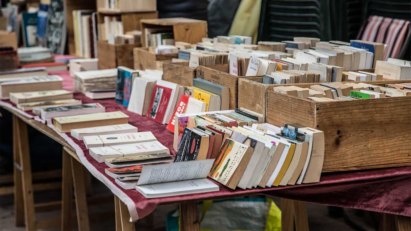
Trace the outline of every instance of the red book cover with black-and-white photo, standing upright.
[[151, 95], [150, 106], [148, 107], [147, 117], [157, 123], [164, 124], [167, 106], [169, 105], [171, 92], [173, 90], [168, 87], [155, 85]]

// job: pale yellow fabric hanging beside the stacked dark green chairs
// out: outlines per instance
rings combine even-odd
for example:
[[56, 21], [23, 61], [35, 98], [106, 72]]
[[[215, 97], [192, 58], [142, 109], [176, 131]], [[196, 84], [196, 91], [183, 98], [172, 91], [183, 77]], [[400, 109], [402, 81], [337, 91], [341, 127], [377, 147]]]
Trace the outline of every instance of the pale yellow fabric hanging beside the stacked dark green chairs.
[[231, 24], [229, 35], [251, 36], [252, 43], [256, 44], [260, 10], [261, 0], [242, 0]]

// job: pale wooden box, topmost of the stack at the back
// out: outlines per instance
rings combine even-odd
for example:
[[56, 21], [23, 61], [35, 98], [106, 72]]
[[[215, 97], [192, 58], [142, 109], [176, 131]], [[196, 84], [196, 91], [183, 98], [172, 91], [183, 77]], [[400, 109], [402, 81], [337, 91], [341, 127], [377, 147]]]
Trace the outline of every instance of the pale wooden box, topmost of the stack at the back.
[[117, 0], [117, 8], [110, 9], [106, 0], [97, 0], [97, 10], [106, 12], [143, 12], [157, 10], [156, 0]]

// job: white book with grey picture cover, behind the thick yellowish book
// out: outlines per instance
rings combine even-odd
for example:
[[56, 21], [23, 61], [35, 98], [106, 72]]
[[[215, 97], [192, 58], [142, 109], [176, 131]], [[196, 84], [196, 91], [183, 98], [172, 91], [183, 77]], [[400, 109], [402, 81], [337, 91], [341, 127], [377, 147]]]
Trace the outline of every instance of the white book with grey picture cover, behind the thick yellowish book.
[[41, 110], [41, 118], [45, 121], [54, 117], [74, 116], [79, 114], [92, 114], [105, 112], [106, 108], [100, 103], [85, 103], [77, 105], [58, 105], [45, 107]]

